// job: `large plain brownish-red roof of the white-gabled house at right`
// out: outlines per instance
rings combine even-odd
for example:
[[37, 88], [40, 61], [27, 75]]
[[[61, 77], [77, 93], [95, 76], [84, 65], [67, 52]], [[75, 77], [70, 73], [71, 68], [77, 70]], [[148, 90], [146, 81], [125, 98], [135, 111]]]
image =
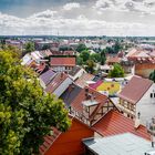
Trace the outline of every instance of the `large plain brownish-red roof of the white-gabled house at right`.
[[130, 103], [136, 104], [152, 84], [153, 81], [148, 79], [133, 76], [128, 84], [118, 94], [118, 96]]

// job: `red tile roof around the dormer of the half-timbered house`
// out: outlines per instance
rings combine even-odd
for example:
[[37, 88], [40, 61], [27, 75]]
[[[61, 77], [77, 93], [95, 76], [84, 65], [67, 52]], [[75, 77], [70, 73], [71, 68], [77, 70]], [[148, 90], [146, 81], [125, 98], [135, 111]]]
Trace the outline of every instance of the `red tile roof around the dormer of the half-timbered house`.
[[[97, 101], [100, 104], [106, 103], [108, 100], [107, 96], [101, 94], [100, 92], [91, 89], [91, 87], [85, 87], [89, 89], [89, 93], [95, 96], [95, 101]], [[79, 113], [83, 112], [83, 105], [82, 102], [85, 101], [85, 89], [82, 89], [81, 92], [78, 94], [78, 96], [73, 100], [71, 103], [71, 106]]]

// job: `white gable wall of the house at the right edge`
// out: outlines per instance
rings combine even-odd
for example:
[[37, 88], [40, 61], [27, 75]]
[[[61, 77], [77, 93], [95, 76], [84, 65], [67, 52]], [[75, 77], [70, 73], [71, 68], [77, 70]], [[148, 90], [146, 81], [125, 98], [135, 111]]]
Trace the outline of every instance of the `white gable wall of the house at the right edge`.
[[151, 121], [155, 116], [155, 97], [151, 99], [151, 93], [155, 93], [155, 84], [153, 84], [141, 101], [136, 104], [136, 116], [141, 113], [141, 123], [146, 125], [146, 121]]

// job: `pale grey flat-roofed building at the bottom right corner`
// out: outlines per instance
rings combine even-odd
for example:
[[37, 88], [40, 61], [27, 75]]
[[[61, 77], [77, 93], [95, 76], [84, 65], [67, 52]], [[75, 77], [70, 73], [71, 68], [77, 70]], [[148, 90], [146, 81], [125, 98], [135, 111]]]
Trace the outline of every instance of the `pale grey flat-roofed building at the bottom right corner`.
[[151, 142], [131, 133], [83, 140], [86, 155], [154, 155]]

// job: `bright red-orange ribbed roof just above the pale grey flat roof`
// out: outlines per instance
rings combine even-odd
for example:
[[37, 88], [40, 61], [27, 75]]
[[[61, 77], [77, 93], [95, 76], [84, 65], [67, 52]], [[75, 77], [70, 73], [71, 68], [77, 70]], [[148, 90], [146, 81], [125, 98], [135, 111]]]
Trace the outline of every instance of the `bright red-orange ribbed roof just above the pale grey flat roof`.
[[125, 117], [123, 114], [114, 110], [110, 111], [96, 124], [94, 124], [93, 130], [102, 136], [111, 136], [130, 132], [143, 138], [151, 140], [145, 126], [140, 125], [135, 128], [133, 120]]

